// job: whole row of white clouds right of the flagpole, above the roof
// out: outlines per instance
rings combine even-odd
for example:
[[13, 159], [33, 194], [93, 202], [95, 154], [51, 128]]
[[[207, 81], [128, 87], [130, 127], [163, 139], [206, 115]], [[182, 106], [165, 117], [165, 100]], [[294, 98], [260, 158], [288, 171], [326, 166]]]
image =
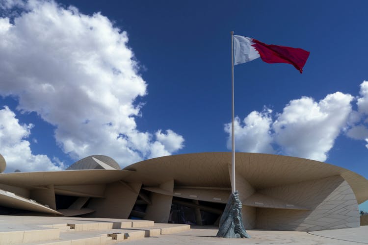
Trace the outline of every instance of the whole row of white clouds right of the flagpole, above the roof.
[[[352, 109], [356, 100], [357, 110]], [[231, 148], [231, 123], [225, 124]], [[279, 153], [325, 161], [339, 135], [362, 140], [368, 148], [368, 81], [360, 85], [360, 96], [336, 92], [315, 101], [293, 99], [281, 113], [269, 109], [253, 111], [235, 122], [236, 150]]]

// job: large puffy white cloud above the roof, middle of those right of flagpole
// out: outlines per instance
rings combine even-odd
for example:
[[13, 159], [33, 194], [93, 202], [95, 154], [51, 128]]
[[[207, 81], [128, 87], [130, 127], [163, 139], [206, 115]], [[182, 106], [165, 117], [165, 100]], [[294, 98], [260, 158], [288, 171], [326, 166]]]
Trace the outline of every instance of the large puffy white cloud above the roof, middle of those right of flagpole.
[[288, 155], [325, 161], [351, 112], [351, 95], [340, 92], [319, 102], [291, 100], [273, 123], [275, 142]]

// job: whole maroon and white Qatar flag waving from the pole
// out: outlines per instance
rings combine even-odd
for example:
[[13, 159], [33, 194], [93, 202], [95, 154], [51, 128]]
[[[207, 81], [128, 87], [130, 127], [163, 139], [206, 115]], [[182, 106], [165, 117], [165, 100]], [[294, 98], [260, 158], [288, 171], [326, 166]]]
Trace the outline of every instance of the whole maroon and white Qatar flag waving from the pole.
[[235, 65], [261, 57], [266, 63], [291, 64], [302, 73], [308, 56], [309, 52], [304, 49], [265, 44], [254, 38], [234, 35]]

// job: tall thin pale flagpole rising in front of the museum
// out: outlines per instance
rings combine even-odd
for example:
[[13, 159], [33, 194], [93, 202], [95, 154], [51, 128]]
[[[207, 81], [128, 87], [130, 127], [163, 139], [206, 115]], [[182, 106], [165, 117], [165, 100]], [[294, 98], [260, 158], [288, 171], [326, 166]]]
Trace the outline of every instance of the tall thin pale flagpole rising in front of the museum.
[[232, 92], [232, 122], [231, 122], [231, 147], [232, 147], [232, 161], [231, 161], [231, 191], [236, 192], [235, 188], [235, 136], [234, 136], [234, 31], [231, 31], [231, 92]]

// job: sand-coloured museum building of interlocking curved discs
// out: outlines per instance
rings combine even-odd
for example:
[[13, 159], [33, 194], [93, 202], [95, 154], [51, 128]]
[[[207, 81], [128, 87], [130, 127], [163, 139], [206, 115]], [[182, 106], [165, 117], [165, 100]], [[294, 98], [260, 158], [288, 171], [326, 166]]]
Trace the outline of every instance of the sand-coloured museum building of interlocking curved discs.
[[[0, 172], [5, 170], [0, 155]], [[217, 225], [231, 194], [231, 152], [158, 157], [123, 170], [93, 155], [65, 171], [0, 174], [1, 215], [144, 219]], [[359, 227], [368, 180], [314, 160], [236, 153], [246, 229], [315, 231]]]

